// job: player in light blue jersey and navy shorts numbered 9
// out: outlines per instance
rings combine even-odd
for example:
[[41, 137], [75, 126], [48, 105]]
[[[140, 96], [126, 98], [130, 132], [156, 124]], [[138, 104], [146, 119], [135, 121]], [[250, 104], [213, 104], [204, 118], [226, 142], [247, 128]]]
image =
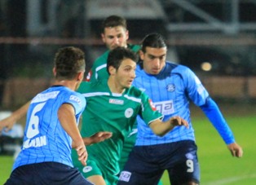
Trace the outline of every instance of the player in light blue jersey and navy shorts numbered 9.
[[177, 126], [159, 137], [138, 117], [135, 148], [130, 152], [118, 184], [157, 184], [164, 170], [168, 170], [172, 185], [200, 183], [190, 100], [210, 119], [232, 156], [242, 156], [242, 148], [201, 81], [189, 68], [166, 61], [166, 53], [167, 46], [160, 34], [144, 37], [139, 51], [142, 62], [137, 64], [133, 85], [152, 99], [164, 115], [164, 121], [179, 115], [188, 121], [189, 128]]

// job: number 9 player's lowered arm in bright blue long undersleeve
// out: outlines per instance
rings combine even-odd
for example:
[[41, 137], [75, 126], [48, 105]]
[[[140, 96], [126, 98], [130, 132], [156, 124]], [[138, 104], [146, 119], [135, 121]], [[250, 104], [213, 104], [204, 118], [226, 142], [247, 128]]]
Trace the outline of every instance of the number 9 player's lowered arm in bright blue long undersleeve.
[[239, 146], [232, 134], [232, 130], [227, 125], [222, 112], [220, 112], [218, 105], [210, 97], [206, 99], [204, 105], [200, 106], [201, 110], [205, 113], [206, 117], [210, 120], [218, 134], [221, 135], [224, 142], [227, 144], [227, 148], [232, 153], [232, 156], [241, 157], [243, 151], [241, 146]]

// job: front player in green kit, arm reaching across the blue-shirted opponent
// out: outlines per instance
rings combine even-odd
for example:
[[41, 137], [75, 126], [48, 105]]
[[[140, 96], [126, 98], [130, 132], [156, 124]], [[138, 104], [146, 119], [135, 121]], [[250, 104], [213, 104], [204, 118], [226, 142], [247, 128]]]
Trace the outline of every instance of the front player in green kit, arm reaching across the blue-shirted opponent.
[[82, 82], [78, 89], [86, 98], [86, 110], [82, 114], [82, 137], [100, 130], [113, 133], [112, 138], [86, 147], [89, 153], [86, 166], [77, 161], [76, 152], [73, 152], [73, 164], [90, 182], [97, 185], [117, 183], [118, 160], [123, 142], [138, 115], [145, 121], [146, 127], [160, 136], [174, 126], [188, 126], [188, 122], [179, 115], [162, 122], [161, 113], [152, 107], [148, 95], [131, 86], [135, 79], [136, 61], [137, 55], [133, 51], [117, 47], [108, 55], [108, 79]]

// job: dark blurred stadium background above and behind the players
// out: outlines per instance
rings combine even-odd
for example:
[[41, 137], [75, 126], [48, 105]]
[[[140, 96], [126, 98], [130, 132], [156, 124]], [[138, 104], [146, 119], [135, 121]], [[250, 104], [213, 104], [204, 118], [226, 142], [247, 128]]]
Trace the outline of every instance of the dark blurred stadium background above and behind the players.
[[192, 68], [214, 98], [256, 98], [255, 0], [1, 0], [0, 108], [50, 85], [61, 46], [82, 48], [88, 71], [106, 50], [100, 24], [113, 14], [126, 18], [131, 43], [163, 34], [167, 59]]

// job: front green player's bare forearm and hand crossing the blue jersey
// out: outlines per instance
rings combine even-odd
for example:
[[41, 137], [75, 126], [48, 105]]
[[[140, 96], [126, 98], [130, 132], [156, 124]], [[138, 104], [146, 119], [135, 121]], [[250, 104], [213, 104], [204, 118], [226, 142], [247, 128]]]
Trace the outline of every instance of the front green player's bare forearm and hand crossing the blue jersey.
[[161, 121], [157, 119], [149, 123], [149, 127], [152, 129], [154, 134], [158, 136], [164, 136], [166, 133], [173, 130], [174, 126], [186, 126], [188, 127], [188, 121], [182, 117], [170, 117], [168, 121]]

